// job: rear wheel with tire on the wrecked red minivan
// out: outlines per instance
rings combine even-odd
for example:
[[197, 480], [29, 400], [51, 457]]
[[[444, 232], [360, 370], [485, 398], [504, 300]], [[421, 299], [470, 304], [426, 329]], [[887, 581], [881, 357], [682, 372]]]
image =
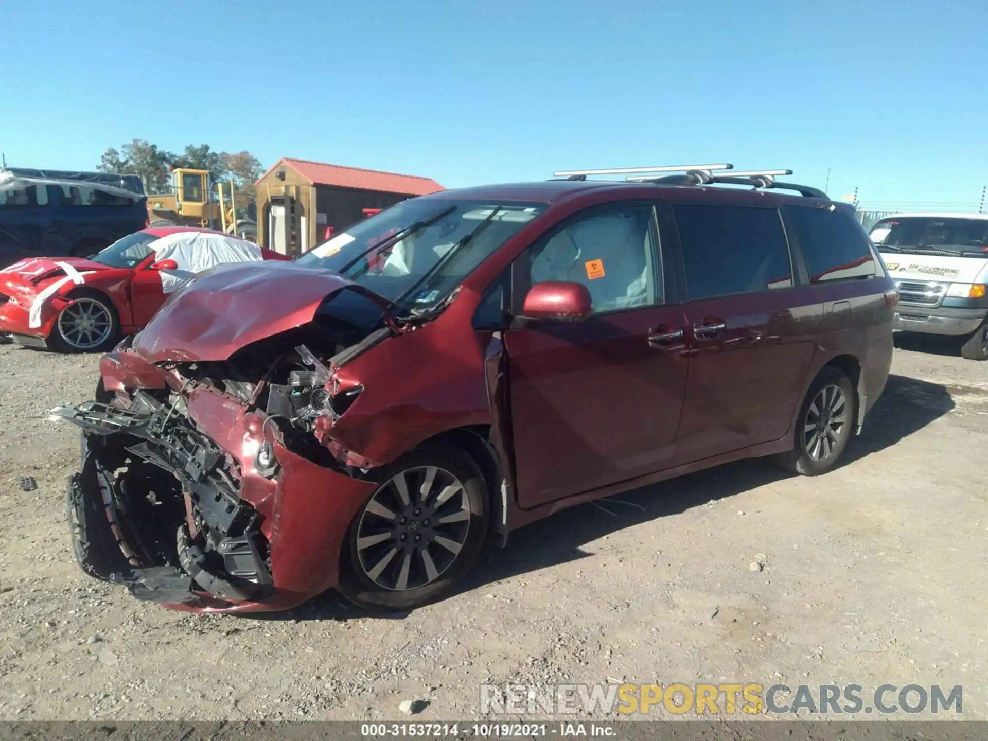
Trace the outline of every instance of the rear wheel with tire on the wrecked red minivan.
[[[835, 398], [837, 395], [834, 389], [840, 391], [843, 401]], [[826, 415], [821, 419], [817, 413], [824, 405], [830, 409], [832, 419], [829, 424]], [[840, 422], [839, 428], [835, 427], [838, 422]], [[807, 430], [815, 423], [819, 423], [822, 427]], [[818, 476], [826, 473], [837, 464], [844, 453], [857, 424], [858, 394], [851, 379], [843, 371], [827, 366], [810, 384], [806, 398], [799, 407], [792, 450], [777, 455], [776, 462], [786, 470], [803, 476]], [[831, 434], [821, 437], [819, 434], [821, 429]]]

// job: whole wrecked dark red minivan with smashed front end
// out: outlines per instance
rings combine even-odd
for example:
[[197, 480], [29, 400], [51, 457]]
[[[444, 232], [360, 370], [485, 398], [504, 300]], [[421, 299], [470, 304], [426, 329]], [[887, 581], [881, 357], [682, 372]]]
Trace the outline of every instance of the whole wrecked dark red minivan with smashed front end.
[[76, 553], [181, 610], [414, 608], [565, 507], [742, 457], [829, 470], [897, 300], [852, 208], [771, 173], [405, 201], [198, 277], [103, 358], [57, 410]]

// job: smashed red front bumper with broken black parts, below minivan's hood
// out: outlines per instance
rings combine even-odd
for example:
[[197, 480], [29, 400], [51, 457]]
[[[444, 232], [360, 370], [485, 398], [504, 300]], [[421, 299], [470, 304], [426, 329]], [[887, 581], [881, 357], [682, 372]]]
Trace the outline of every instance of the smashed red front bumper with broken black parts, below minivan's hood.
[[[104, 373], [108, 391], [120, 394], [119, 379], [135, 371], [151, 387], [163, 377], [126, 355], [128, 369]], [[83, 427], [82, 470], [69, 485], [82, 568], [195, 612], [286, 610], [335, 586], [347, 529], [374, 484], [288, 450], [268, 417], [209, 386], [173, 391], [157, 408], [149, 398], [136, 391], [129, 410], [60, 412]], [[124, 453], [135, 462], [121, 472]]]

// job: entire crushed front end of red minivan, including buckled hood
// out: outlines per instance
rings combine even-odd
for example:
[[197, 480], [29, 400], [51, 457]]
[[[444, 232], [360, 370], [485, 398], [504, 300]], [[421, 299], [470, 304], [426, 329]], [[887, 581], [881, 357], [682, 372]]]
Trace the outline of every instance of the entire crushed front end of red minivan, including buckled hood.
[[[217, 269], [173, 294], [102, 359], [95, 401], [52, 410], [82, 428], [68, 501], [82, 568], [192, 611], [284, 610], [336, 586], [376, 469], [421, 428], [381, 394], [387, 369], [432, 352], [398, 339], [417, 329], [290, 263]], [[441, 422], [482, 423], [486, 399], [475, 406]]]

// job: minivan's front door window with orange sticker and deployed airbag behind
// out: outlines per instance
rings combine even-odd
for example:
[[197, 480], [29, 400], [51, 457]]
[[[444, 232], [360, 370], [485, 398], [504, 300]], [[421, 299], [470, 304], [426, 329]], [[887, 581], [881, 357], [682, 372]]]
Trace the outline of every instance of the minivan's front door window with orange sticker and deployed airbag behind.
[[531, 285], [583, 284], [594, 313], [654, 304], [657, 253], [651, 206], [605, 206], [578, 214], [530, 249]]

